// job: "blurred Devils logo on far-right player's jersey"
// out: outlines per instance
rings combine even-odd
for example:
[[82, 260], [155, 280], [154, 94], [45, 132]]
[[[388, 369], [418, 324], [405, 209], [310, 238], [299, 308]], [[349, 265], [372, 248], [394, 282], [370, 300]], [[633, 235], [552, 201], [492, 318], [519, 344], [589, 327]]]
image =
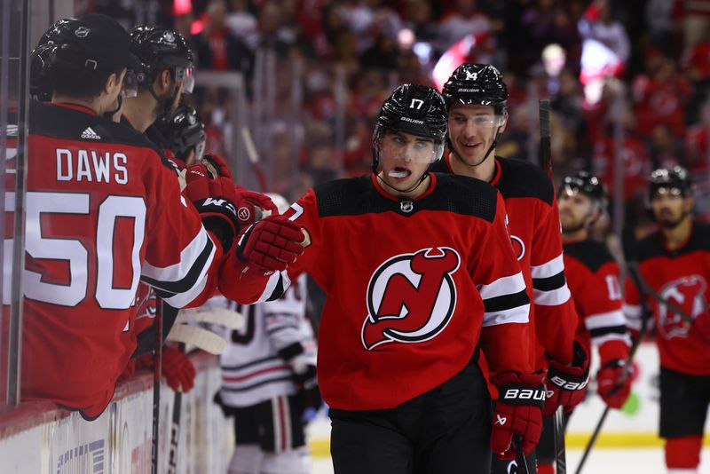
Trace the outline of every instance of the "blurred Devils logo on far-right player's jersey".
[[[661, 288], [659, 295], [663, 296], [670, 303], [675, 304], [686, 314], [693, 318], [704, 312], [707, 308], [705, 291], [706, 280], [700, 275], [684, 276], [678, 280], [671, 281]], [[666, 307], [659, 304], [659, 333], [666, 339], [671, 337], [688, 336], [689, 325], [682, 318]]]

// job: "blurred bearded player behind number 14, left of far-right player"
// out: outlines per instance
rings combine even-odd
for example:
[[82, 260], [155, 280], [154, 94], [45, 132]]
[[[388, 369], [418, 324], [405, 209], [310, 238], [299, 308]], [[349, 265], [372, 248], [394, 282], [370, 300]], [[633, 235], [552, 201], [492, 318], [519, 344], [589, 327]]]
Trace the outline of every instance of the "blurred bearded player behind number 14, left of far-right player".
[[[601, 366], [596, 374], [597, 391], [608, 407], [620, 408], [631, 391], [631, 377], [625, 375], [631, 338], [621, 311], [619, 265], [603, 243], [589, 236], [589, 228], [606, 211], [606, 190], [598, 178], [580, 171], [564, 177], [557, 204], [564, 274], [580, 316], [576, 340], [587, 353], [591, 353], [592, 343], [596, 345]], [[553, 423], [551, 417], [543, 420], [536, 451], [539, 474], [555, 472]]]

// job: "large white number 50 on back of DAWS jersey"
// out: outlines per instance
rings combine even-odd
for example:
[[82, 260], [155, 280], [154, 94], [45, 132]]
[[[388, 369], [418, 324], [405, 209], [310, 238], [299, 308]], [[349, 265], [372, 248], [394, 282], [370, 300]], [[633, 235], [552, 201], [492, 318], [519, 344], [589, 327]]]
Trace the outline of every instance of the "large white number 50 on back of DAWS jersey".
[[[69, 264], [68, 284], [43, 281], [43, 274], [25, 269], [25, 296], [62, 306], [83, 301], [89, 288], [89, 265], [95, 261], [96, 301], [102, 309], [125, 310], [133, 303], [140, 279], [140, 248], [146, 229], [146, 202], [142, 197], [107, 196], [99, 204], [96, 256], [90, 256], [81, 241], [43, 236], [42, 225], [50, 225], [67, 214], [89, 215], [89, 194], [28, 192], [25, 249], [35, 259], [64, 260]], [[130, 260], [130, 288], [114, 288], [114, 230], [119, 217], [133, 220]], [[128, 239], [126, 239], [128, 240]], [[90, 260], [91, 258], [91, 260]]]

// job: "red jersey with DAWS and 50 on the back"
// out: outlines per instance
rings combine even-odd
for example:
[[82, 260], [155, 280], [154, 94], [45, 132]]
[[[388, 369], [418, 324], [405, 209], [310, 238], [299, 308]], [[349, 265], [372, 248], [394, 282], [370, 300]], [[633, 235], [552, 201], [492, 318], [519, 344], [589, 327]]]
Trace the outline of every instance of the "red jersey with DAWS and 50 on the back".
[[31, 116], [22, 397], [91, 419], [135, 349], [138, 281], [201, 304], [221, 249], [137, 131], [83, 107], [33, 102]]

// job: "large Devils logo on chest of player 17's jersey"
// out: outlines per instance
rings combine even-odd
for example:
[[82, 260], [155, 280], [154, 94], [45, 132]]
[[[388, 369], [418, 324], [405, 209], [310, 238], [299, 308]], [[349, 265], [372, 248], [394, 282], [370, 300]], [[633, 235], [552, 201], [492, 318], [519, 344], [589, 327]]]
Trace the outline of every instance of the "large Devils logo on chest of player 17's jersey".
[[452, 275], [460, 262], [454, 249], [438, 247], [391, 257], [380, 265], [367, 286], [365, 348], [421, 343], [444, 330], [456, 307]]

